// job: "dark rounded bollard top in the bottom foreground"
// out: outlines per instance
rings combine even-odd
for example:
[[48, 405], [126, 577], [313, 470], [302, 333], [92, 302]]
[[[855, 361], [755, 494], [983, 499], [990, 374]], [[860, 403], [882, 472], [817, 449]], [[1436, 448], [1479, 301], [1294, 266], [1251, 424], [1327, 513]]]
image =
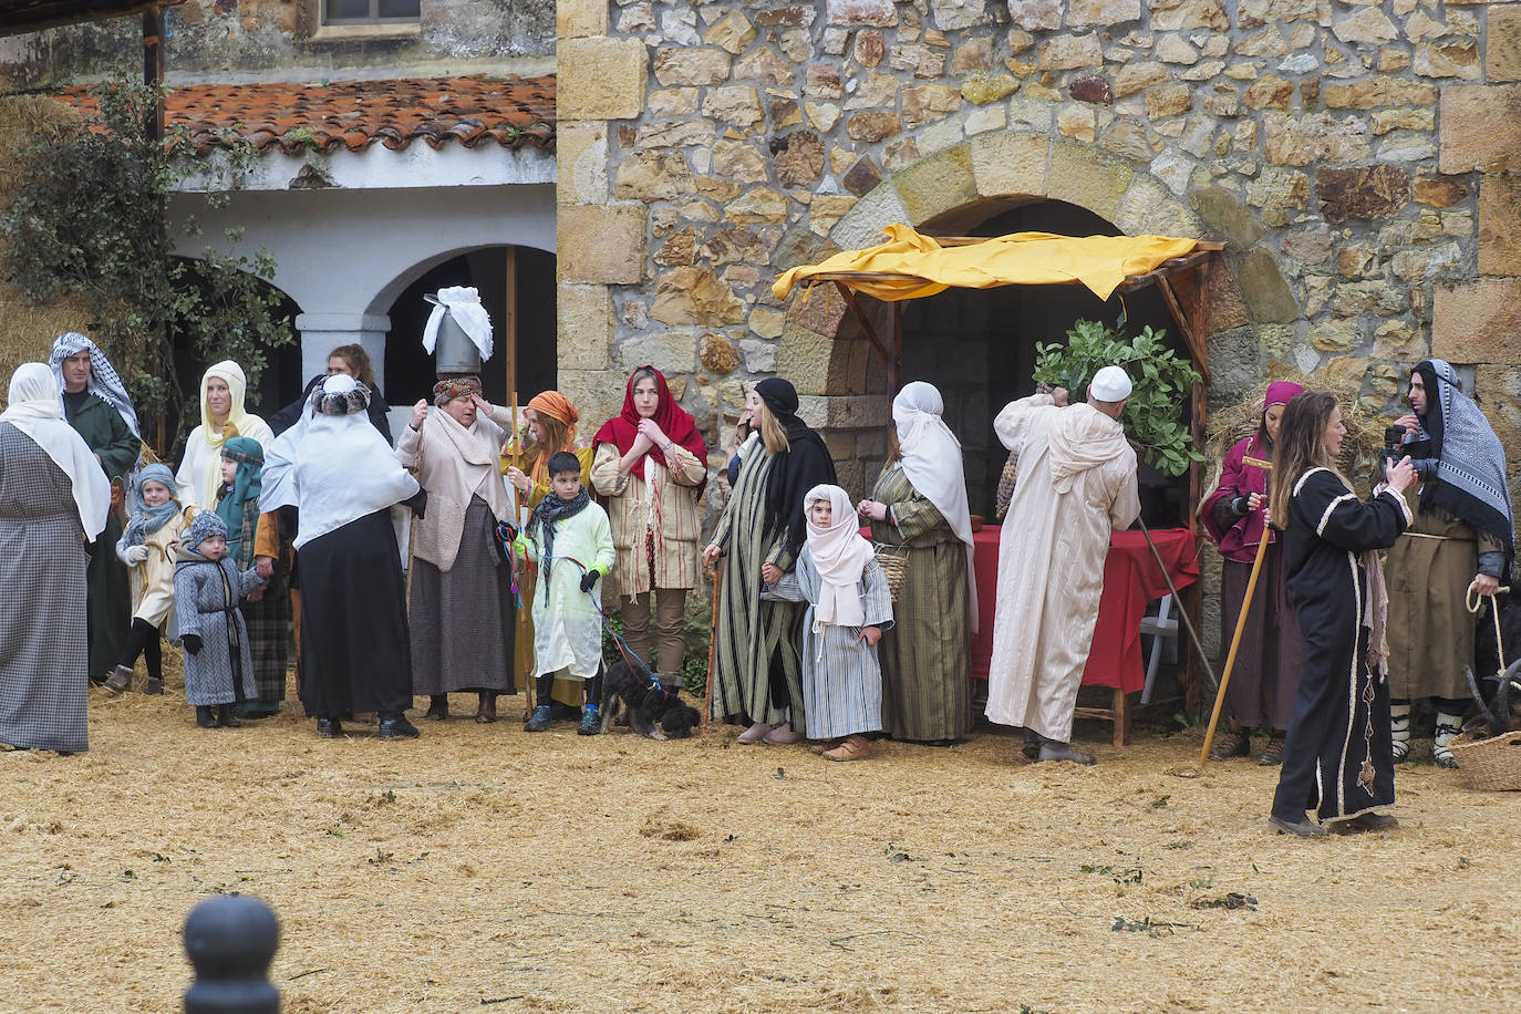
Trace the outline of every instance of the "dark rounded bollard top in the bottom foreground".
[[259, 898], [227, 894], [190, 909], [186, 955], [195, 982], [186, 1014], [278, 1014], [280, 991], [268, 978], [277, 947], [280, 921]]

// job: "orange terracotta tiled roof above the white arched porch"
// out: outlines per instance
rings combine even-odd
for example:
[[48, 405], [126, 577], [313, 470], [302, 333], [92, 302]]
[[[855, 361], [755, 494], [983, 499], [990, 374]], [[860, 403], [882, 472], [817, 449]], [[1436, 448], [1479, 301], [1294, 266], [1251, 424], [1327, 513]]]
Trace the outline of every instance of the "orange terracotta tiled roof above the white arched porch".
[[[88, 119], [96, 99], [84, 87], [61, 99]], [[278, 147], [364, 151], [376, 141], [392, 151], [424, 140], [443, 147], [496, 141], [502, 147], [555, 143], [555, 78], [402, 78], [325, 85], [186, 85], [164, 102], [170, 132], [186, 131], [198, 155], [242, 138], [263, 154]]]

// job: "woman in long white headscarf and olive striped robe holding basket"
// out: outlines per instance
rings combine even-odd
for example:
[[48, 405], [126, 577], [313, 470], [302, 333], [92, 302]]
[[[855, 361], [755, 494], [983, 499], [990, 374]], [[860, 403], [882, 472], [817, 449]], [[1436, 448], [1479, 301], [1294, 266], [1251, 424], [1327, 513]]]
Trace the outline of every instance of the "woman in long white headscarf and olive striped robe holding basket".
[[916, 380], [893, 398], [887, 468], [856, 511], [872, 538], [908, 550], [908, 579], [882, 634], [882, 724], [893, 739], [949, 746], [972, 725], [967, 632], [976, 631], [972, 518], [961, 441]]

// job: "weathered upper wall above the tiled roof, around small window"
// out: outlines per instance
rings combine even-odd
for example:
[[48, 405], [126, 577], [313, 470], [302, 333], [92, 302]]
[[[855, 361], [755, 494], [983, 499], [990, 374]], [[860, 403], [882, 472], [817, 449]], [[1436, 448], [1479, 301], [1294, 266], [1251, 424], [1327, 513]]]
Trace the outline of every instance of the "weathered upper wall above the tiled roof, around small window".
[[[412, 24], [319, 26], [321, 0], [186, 0], [166, 11], [170, 84], [548, 71], [546, 0], [421, 0]], [[0, 38], [0, 91], [141, 74], [141, 20]], [[537, 61], [537, 65], [535, 65]]]

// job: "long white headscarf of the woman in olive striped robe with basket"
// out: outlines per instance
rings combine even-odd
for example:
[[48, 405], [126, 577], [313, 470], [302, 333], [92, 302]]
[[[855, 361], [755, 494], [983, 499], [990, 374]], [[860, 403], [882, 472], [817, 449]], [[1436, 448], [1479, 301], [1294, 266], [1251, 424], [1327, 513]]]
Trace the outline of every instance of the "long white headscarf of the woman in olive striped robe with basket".
[[976, 576], [972, 572], [972, 514], [966, 503], [961, 441], [940, 417], [945, 401], [934, 385], [913, 380], [893, 398], [893, 426], [902, 452], [903, 474], [935, 505], [957, 538], [966, 543], [967, 623], [976, 632]]

